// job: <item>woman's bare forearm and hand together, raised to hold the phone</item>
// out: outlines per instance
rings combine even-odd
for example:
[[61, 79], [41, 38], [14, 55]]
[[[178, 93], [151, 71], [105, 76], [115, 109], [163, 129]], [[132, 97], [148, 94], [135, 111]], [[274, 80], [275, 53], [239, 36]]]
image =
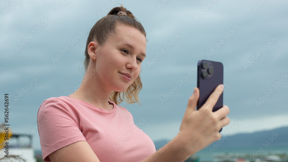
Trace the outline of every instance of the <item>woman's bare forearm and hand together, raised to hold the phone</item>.
[[205, 104], [195, 111], [199, 89], [194, 88], [177, 136], [141, 162], [183, 162], [212, 142], [219, 140], [221, 138], [219, 130], [230, 123], [230, 119], [226, 117], [229, 113], [228, 106], [223, 105], [219, 110], [212, 112], [222, 92], [223, 87], [218, 85]]

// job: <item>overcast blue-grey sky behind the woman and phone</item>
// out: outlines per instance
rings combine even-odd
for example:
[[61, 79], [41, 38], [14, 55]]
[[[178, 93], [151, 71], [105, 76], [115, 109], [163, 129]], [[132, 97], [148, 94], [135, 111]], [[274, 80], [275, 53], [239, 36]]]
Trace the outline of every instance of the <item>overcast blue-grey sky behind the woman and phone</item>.
[[[135, 124], [141, 117], [147, 119], [140, 129], [153, 141], [177, 134], [188, 98], [197, 87], [198, 60], [224, 65], [223, 104], [230, 108], [230, 124], [222, 134], [231, 134], [237, 121], [242, 124], [232, 134], [288, 125], [288, 1], [63, 2], [0, 2], [1, 105], [9, 93], [10, 127], [14, 133], [36, 131], [35, 149], [40, 149], [35, 127], [39, 106], [45, 99], [68, 96], [77, 89], [84, 76], [88, 34], [118, 3], [143, 24], [148, 39], [140, 73], [141, 105], [120, 106], [133, 115]], [[57, 58], [66, 46], [66, 54]], [[185, 78], [188, 72], [193, 74]], [[175, 86], [175, 93], [161, 102]], [[17, 97], [19, 93], [23, 95]], [[18, 100], [12, 105], [14, 96]]]

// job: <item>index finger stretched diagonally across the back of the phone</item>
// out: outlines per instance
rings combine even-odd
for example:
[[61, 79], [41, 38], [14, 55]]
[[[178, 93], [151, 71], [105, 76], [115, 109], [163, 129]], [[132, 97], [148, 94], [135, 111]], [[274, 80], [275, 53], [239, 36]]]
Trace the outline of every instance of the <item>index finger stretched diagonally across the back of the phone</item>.
[[[203, 104], [203, 108], [204, 109], [213, 109], [214, 105], [216, 104], [216, 102], [218, 101], [218, 98], [219, 96], [222, 94], [223, 92], [223, 87], [221, 88], [221, 85], [223, 84], [220, 84], [218, 85], [214, 91], [212, 92], [212, 94], [209, 96], [209, 98], [206, 100], [206, 102]], [[224, 85], [223, 85], [224, 86]]]

